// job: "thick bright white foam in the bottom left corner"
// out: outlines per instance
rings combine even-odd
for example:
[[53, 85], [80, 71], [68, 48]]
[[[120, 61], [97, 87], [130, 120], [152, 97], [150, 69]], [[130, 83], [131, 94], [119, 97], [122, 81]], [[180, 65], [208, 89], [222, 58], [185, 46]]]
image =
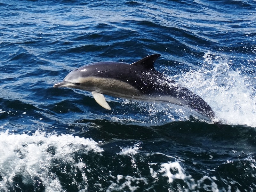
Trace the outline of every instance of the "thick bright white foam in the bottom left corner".
[[[74, 159], [78, 150], [84, 153], [89, 150], [95, 153], [103, 151], [92, 139], [68, 134], [47, 135], [39, 131], [33, 135], [9, 134], [8, 130], [0, 133], [0, 172], [4, 175], [0, 191], [7, 190], [16, 175], [21, 175], [25, 184], [33, 183], [35, 177], [39, 178], [45, 191], [64, 191], [58, 177], [50, 170], [52, 161], [60, 160], [83, 167], [82, 162], [76, 163]], [[84, 174], [83, 177], [85, 179]], [[82, 188], [86, 190], [85, 185]]]

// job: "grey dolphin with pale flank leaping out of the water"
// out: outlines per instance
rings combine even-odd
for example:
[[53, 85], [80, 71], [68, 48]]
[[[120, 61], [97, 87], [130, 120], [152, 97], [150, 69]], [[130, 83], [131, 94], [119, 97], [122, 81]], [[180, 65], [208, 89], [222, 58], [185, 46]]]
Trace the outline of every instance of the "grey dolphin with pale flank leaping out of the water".
[[160, 54], [149, 55], [132, 64], [96, 62], [76, 68], [53, 87], [69, 87], [92, 92], [96, 102], [110, 110], [103, 94], [124, 99], [154, 100], [188, 106], [210, 119], [212, 108], [198, 95], [177, 85], [154, 68]]

